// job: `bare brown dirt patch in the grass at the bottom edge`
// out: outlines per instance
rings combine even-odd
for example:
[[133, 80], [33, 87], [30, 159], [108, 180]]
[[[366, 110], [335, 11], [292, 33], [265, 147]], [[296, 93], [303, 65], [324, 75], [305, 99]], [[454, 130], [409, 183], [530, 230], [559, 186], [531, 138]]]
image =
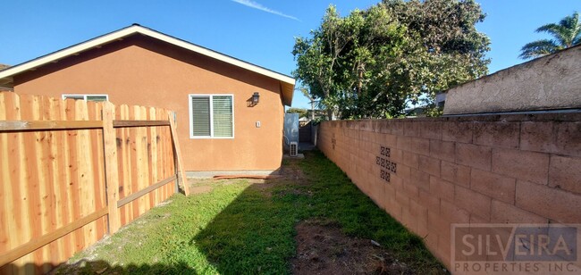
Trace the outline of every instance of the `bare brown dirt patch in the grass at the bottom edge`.
[[347, 237], [336, 224], [301, 221], [296, 229], [293, 274], [414, 274], [370, 239]]

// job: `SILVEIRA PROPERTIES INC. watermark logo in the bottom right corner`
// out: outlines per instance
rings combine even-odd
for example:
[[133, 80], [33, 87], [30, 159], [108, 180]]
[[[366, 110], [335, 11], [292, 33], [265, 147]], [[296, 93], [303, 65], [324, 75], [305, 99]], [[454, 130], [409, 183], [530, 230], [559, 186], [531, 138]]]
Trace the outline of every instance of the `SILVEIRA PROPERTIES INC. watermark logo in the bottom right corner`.
[[578, 274], [579, 225], [452, 224], [452, 273]]

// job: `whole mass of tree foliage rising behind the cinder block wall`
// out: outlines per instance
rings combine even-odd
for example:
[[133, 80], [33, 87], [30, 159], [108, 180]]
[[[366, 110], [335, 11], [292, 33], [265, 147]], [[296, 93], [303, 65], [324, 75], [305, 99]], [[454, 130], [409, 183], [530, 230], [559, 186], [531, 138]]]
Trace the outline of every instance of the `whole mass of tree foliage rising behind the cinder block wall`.
[[390, 0], [341, 17], [330, 6], [298, 37], [293, 75], [342, 119], [398, 117], [420, 97], [486, 74], [489, 39], [480, 6], [466, 0]]

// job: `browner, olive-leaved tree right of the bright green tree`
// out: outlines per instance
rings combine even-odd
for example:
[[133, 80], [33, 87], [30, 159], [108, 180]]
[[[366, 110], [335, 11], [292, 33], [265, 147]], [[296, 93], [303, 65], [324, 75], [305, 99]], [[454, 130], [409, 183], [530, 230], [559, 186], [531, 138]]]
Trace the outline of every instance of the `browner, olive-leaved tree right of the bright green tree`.
[[398, 79], [407, 103], [434, 103], [435, 95], [488, 72], [490, 39], [476, 30], [485, 14], [473, 0], [383, 0], [421, 50], [407, 54]]

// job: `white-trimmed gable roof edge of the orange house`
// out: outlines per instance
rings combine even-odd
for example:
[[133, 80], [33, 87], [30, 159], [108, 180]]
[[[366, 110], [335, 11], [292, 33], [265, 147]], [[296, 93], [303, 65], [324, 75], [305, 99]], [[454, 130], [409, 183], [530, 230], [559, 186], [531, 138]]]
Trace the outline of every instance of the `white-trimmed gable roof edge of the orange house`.
[[117, 39], [121, 39], [122, 37], [129, 37], [137, 33], [145, 35], [147, 37], [153, 37], [162, 40], [164, 42], [173, 44], [174, 46], [179, 46], [198, 54], [206, 55], [208, 57], [214, 58], [224, 63], [232, 64], [234, 66], [246, 69], [248, 71], [254, 71], [258, 74], [264, 75], [272, 79], [277, 79], [281, 83], [282, 103], [289, 106], [290, 104], [292, 104], [295, 79], [291, 78], [290, 76], [284, 75], [276, 71], [265, 69], [252, 63], [247, 63], [232, 56], [215, 52], [206, 47], [198, 46], [176, 37], [168, 36], [154, 29], [148, 29], [146, 27], [140, 26], [139, 24], [133, 24], [129, 27], [116, 30], [103, 36], [95, 37], [80, 44], [64, 48], [52, 54], [40, 56], [36, 59], [15, 65], [5, 70], [2, 70], [2, 68], [0, 67], [0, 70], [2, 70], [0, 71], [0, 87], [13, 87], [13, 76], [21, 72], [33, 71], [36, 68], [46, 65], [48, 63], [55, 63], [56, 61], [63, 59], [65, 57], [80, 54], [81, 52], [90, 50], [92, 48], [100, 47], [104, 44], [114, 42]]

